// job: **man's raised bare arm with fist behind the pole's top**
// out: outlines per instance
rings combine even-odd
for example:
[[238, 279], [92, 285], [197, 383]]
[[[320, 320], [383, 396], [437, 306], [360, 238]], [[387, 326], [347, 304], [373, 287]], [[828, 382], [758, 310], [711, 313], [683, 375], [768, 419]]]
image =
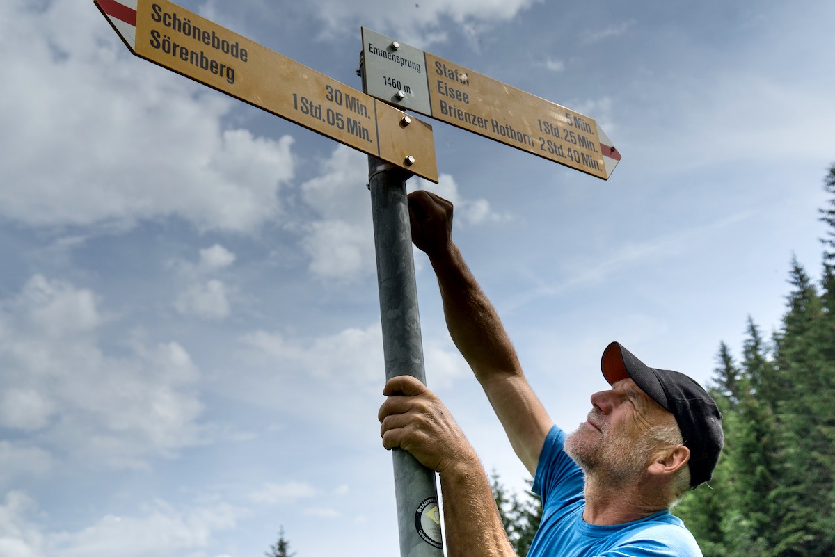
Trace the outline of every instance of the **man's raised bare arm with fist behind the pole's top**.
[[539, 402], [493, 304], [453, 243], [453, 204], [423, 190], [409, 195], [412, 241], [438, 277], [453, 342], [467, 360], [531, 475], [553, 422]]

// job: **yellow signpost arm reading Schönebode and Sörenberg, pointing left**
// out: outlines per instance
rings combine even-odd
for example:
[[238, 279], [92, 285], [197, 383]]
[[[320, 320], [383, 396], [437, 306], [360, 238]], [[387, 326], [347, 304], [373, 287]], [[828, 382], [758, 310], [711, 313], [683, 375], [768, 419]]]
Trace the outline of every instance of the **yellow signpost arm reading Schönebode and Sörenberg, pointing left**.
[[438, 182], [432, 127], [167, 0], [94, 0], [130, 51]]

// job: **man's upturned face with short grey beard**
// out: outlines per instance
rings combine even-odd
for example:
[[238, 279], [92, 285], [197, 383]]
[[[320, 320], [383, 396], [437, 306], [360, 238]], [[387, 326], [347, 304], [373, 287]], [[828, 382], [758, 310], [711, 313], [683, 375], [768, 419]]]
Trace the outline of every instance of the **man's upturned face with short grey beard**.
[[672, 414], [632, 379], [593, 394], [591, 403], [589, 418], [565, 440], [565, 452], [587, 475], [607, 484], [640, 478], [658, 444], [650, 431], [673, 419]]

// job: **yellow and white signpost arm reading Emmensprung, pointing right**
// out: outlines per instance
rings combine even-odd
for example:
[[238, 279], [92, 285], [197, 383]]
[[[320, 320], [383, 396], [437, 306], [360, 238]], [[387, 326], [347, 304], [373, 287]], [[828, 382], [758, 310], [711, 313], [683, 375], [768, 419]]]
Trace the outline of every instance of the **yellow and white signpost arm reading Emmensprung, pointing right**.
[[402, 108], [609, 179], [620, 161], [595, 120], [362, 28], [365, 90]]

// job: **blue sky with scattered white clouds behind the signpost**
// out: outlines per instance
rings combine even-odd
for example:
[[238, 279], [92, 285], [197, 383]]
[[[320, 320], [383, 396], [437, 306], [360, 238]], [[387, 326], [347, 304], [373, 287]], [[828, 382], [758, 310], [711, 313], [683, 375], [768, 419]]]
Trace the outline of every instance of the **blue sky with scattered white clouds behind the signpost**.
[[[832, 3], [180, 5], [355, 88], [366, 26], [597, 120], [608, 182], [440, 122], [440, 184], [408, 182], [456, 203], [566, 429], [611, 340], [706, 383], [792, 256], [818, 274]], [[282, 524], [396, 552], [365, 156], [134, 58], [92, 2], [0, 4], [0, 60], [0, 555], [244, 557]], [[523, 489], [416, 264], [428, 384]]]

